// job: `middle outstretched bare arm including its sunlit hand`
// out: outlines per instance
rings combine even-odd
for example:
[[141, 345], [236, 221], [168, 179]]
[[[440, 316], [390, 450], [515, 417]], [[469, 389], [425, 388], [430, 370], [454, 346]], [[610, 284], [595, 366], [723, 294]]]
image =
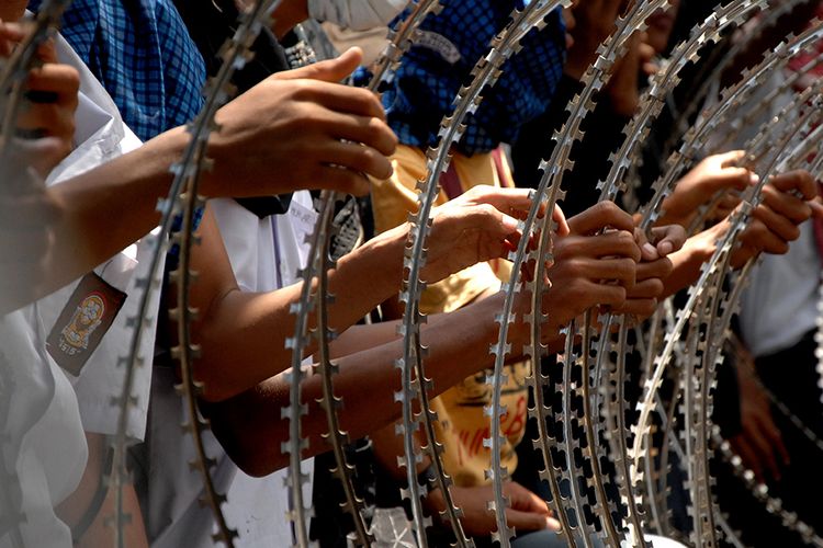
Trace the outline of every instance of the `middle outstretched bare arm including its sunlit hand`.
[[[438, 281], [478, 261], [505, 255], [509, 240], [517, 238], [517, 220], [503, 212], [526, 210], [530, 203], [528, 190], [478, 186], [437, 208], [421, 271], [424, 279]], [[408, 229], [403, 225], [380, 235], [342, 258], [329, 272], [329, 292], [336, 296], [329, 307], [332, 329], [343, 332], [399, 292]], [[196, 374], [205, 384], [203, 397], [216, 401], [290, 367], [291, 351], [285, 349], [285, 340], [294, 332], [295, 317], [290, 307], [300, 299], [301, 284], [271, 293], [240, 292], [211, 215], [203, 224], [202, 242], [192, 255], [199, 272], [192, 299], [201, 311], [193, 335], [203, 347]], [[309, 327], [314, 328], [314, 318], [309, 318]], [[373, 331], [371, 342], [391, 338], [384, 326], [358, 330]], [[349, 339], [346, 352], [368, 347], [370, 339], [358, 345]], [[309, 346], [306, 355], [314, 350]]]

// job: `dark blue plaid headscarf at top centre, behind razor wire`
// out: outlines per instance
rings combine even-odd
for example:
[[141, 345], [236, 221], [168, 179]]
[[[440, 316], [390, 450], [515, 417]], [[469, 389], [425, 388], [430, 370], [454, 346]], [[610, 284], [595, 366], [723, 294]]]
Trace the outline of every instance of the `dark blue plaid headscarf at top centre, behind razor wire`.
[[[441, 0], [443, 10], [420, 25], [422, 42], [403, 58], [383, 93], [388, 123], [401, 142], [426, 148], [437, 144], [440, 121], [469, 72], [488, 52], [492, 38], [509, 22], [522, 0]], [[565, 25], [560, 10], [540, 33], [532, 31], [523, 49], [505, 66], [499, 81], [474, 115], [458, 144], [464, 155], [486, 152], [512, 142], [522, 124], [549, 106], [563, 73]]]

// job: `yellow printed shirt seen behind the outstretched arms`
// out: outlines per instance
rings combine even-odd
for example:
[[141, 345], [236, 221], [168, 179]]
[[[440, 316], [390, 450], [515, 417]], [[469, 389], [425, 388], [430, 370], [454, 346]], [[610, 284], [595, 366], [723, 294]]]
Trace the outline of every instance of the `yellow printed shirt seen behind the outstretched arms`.
[[[503, 155], [501, 155], [503, 156]], [[417, 182], [426, 175], [426, 156], [420, 149], [399, 145], [392, 157], [394, 174], [385, 181], [372, 181], [372, 205], [377, 232], [394, 228], [417, 210]], [[465, 157], [455, 153], [451, 160], [463, 191], [478, 184], [514, 186], [510, 170], [504, 162], [496, 169], [492, 153]], [[503, 181], [500, 181], [503, 176]], [[437, 205], [449, 197], [441, 190]], [[430, 284], [420, 298], [424, 313], [449, 312], [467, 305], [488, 289], [497, 290], [508, 279], [510, 263], [495, 260], [465, 269], [448, 278]], [[507, 366], [508, 383], [503, 387], [501, 403], [507, 409], [500, 431], [506, 438], [501, 463], [512, 472], [517, 467], [515, 446], [522, 439], [527, 420], [526, 375], [528, 364]], [[484, 470], [491, 468], [491, 450], [483, 438], [491, 437], [491, 420], [483, 412], [492, 403], [492, 385], [486, 384], [491, 370], [480, 372], [448, 389], [431, 401], [439, 421], [438, 441], [443, 444], [446, 470], [459, 487], [488, 483]]]

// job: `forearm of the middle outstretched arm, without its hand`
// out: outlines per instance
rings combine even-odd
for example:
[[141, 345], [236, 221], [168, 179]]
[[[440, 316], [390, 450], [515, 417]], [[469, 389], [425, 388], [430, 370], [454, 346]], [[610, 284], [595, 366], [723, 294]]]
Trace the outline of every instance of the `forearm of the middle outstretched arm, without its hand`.
[[[204, 246], [213, 248], [215, 238], [219, 236], [204, 227]], [[386, 232], [342, 258], [337, 269], [329, 271], [328, 288], [335, 295], [328, 308], [331, 329], [345, 332], [399, 290], [405, 241], [403, 229]], [[216, 269], [212, 251], [195, 250], [195, 270]], [[212, 274], [204, 272], [204, 276]], [[228, 277], [230, 284], [221, 285]], [[194, 286], [201, 295], [198, 299], [205, 299], [195, 301], [205, 316], [195, 324], [194, 334], [203, 349], [198, 377], [205, 384], [203, 397], [210, 401], [234, 397], [291, 366], [292, 351], [285, 343], [294, 334], [296, 316], [291, 307], [300, 301], [302, 288], [301, 284], [295, 284], [271, 293], [248, 293], [237, 288], [230, 273], [221, 279], [211, 288], [200, 282]], [[210, 283], [210, 279], [203, 281], [203, 284]], [[212, 298], [215, 295], [217, 298]], [[309, 329], [316, 327], [316, 320], [315, 310], [308, 318]], [[386, 331], [385, 327], [362, 329]], [[375, 344], [385, 341], [385, 336], [377, 335]], [[351, 338], [343, 338], [349, 341], [345, 343], [349, 350], [343, 352], [351, 352]], [[362, 350], [362, 342], [360, 344], [357, 350]], [[316, 351], [317, 341], [309, 338], [302, 357]], [[339, 349], [335, 352], [342, 353]], [[229, 367], [232, 364], [241, 366]]]

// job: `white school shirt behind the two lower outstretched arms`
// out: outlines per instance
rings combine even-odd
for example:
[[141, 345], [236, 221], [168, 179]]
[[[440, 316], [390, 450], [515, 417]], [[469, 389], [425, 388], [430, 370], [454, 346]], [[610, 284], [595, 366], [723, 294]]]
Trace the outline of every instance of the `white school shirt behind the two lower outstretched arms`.
[[[296, 192], [285, 215], [263, 219], [233, 199], [212, 199], [217, 224], [228, 252], [238, 287], [266, 292], [297, 282], [297, 270], [306, 264], [306, 236], [314, 230], [317, 215], [311, 195]], [[194, 457], [189, 436], [180, 435], [184, 418], [180, 397], [173, 390], [173, 373], [155, 368], [151, 389], [148, 529], [153, 548], [211, 548], [216, 532], [211, 510], [198, 500], [203, 496], [200, 477], [188, 461]], [[279, 416], [275, 418], [279, 420]], [[271, 441], [270, 443], [280, 443]], [[237, 529], [238, 548], [289, 546], [292, 529], [285, 518], [288, 470], [266, 478], [251, 478], [226, 456], [210, 432], [205, 433], [207, 456], [215, 458], [217, 491], [227, 494], [223, 512], [230, 528]], [[313, 459], [303, 461], [303, 472], [312, 477]], [[312, 500], [311, 482], [304, 486], [304, 500]]]

